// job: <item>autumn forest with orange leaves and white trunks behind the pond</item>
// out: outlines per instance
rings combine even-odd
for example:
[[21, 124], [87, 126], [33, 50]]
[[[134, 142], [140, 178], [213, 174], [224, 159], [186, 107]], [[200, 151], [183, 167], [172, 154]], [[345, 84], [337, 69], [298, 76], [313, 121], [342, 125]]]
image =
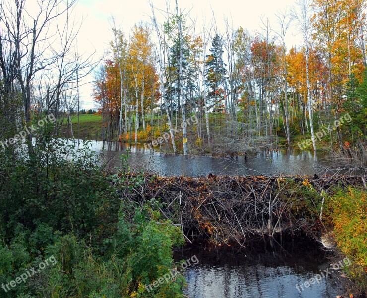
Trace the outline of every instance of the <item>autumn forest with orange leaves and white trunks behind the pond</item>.
[[[213, 20], [198, 27], [177, 6], [163, 13], [152, 4], [150, 23], [131, 32], [113, 23], [111, 55], [95, 73], [101, 137], [136, 144], [169, 131], [183, 154], [186, 137], [213, 154], [304, 149], [307, 138], [313, 150], [358, 146], [367, 127], [365, 9], [359, 0], [303, 0], [249, 32], [230, 19], [223, 31]], [[291, 27], [303, 43], [287, 48]], [[335, 125], [347, 114], [351, 121]], [[197, 123], [177, 136], [173, 127], [192, 115]]]

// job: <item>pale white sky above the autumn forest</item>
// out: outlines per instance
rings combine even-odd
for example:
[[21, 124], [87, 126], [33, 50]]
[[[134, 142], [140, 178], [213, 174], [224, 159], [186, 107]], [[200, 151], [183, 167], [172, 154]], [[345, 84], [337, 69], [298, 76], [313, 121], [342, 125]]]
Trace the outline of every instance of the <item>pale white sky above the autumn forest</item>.
[[[175, 9], [175, 0], [152, 0], [153, 5], [166, 11], [167, 4], [171, 11]], [[179, 9], [183, 13], [189, 12], [190, 17], [202, 27], [214, 15], [215, 25], [224, 32], [224, 19], [227, 18], [233, 26], [242, 26], [250, 32], [261, 32], [262, 21], [269, 20], [273, 31], [277, 31], [275, 13], [290, 9], [295, 0], [178, 0]], [[74, 8], [76, 19], [82, 22], [78, 35], [77, 47], [79, 53], [94, 52], [94, 59], [110, 58], [109, 42], [112, 40], [111, 17], [115, 18], [117, 27], [128, 34], [134, 24], [140, 21], [149, 22], [152, 15], [147, 0], [79, 0]], [[156, 11], [159, 21], [159, 11]], [[153, 33], [152, 33], [153, 34]], [[272, 32], [275, 36], [275, 33]], [[154, 34], [155, 36], [155, 34]], [[297, 31], [297, 23], [293, 22], [286, 36], [286, 45], [290, 49], [293, 45], [300, 45], [301, 37]], [[86, 77], [80, 87], [83, 108], [94, 108], [91, 97], [93, 75]]]

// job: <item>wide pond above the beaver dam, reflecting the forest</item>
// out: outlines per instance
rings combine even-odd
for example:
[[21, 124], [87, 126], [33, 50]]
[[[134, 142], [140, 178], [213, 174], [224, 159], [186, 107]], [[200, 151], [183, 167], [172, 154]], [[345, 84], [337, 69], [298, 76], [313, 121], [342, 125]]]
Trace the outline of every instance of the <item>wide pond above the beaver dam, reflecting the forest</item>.
[[91, 141], [91, 148], [97, 152], [104, 151], [109, 167], [119, 166], [121, 154], [126, 149], [131, 150], [129, 165], [132, 169], [143, 169], [144, 172], [156, 173], [161, 176], [206, 176], [215, 175], [255, 175], [255, 174], [289, 174], [313, 175], [325, 173], [330, 163], [325, 160], [323, 152], [314, 155], [310, 151], [297, 149], [281, 149], [228, 158], [213, 158], [209, 156], [171, 155], [152, 152], [143, 146], [129, 147], [121, 142]]

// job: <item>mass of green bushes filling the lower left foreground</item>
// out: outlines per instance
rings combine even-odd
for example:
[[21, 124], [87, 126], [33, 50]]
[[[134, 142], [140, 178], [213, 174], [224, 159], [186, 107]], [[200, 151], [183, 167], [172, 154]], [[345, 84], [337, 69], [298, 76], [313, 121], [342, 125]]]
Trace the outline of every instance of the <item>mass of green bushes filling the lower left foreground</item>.
[[[0, 148], [0, 284], [14, 280], [49, 256], [48, 266], [1, 297], [182, 297], [178, 275], [148, 293], [150, 284], [175, 266], [172, 249], [181, 231], [156, 211], [120, 198], [144, 183], [143, 173], [103, 173], [85, 143], [79, 149], [35, 134], [30, 150]], [[126, 216], [128, 215], [128, 216]]]

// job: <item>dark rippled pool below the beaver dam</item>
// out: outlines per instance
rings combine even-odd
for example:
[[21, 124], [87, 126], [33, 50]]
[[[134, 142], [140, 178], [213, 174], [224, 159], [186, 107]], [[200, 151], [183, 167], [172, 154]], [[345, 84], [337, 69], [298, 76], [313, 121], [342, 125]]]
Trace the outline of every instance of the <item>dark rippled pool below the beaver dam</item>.
[[320, 270], [330, 267], [328, 253], [316, 243], [297, 243], [297, 248], [275, 251], [261, 249], [213, 249], [189, 246], [175, 253], [175, 259], [196, 256], [184, 275], [191, 298], [334, 298], [343, 294], [340, 272], [322, 278], [302, 291], [303, 285]]

